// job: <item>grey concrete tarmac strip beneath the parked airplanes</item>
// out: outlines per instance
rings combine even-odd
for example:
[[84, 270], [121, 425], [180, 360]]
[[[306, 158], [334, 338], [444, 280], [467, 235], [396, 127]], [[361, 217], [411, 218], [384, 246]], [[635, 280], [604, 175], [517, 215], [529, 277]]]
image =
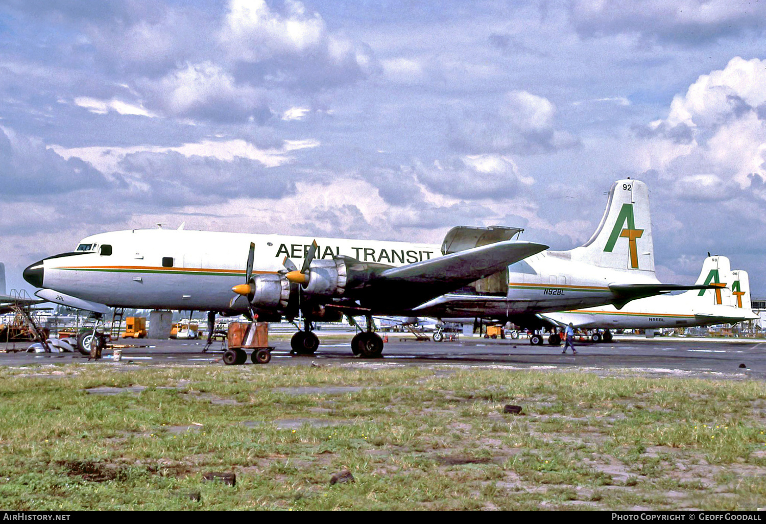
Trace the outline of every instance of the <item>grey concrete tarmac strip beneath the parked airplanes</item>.
[[[322, 344], [315, 355], [290, 355], [289, 337], [272, 337], [274, 346], [267, 365], [459, 365], [502, 366], [518, 369], [581, 369], [604, 374], [687, 376], [699, 378], [754, 378], [766, 380], [766, 341], [759, 339], [682, 339], [615, 336], [612, 342], [580, 342], [578, 354], [561, 354], [562, 346], [531, 346], [525, 339], [479, 339], [462, 337], [457, 342], [416, 342], [388, 335], [382, 359], [361, 359], [352, 355], [349, 337], [317, 332]], [[221, 342], [202, 352], [201, 340], [120, 340], [122, 362], [146, 365], [224, 365]], [[139, 347], [145, 346], [145, 347]], [[17, 347], [22, 347], [17, 344]], [[2, 346], [0, 346], [2, 349]], [[100, 362], [112, 363], [106, 349]], [[0, 365], [66, 364], [88, 362], [73, 353], [2, 353]], [[741, 367], [741, 365], [745, 367]], [[248, 359], [246, 365], [254, 365]]]

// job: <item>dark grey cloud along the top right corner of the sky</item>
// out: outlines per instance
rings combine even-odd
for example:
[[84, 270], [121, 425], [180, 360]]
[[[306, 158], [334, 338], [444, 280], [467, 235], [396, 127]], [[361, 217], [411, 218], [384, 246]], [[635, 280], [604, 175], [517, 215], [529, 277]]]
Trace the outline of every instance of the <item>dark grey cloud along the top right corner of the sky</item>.
[[569, 16], [576, 30], [588, 36], [639, 33], [693, 43], [762, 31], [766, 5], [742, 0], [573, 0]]

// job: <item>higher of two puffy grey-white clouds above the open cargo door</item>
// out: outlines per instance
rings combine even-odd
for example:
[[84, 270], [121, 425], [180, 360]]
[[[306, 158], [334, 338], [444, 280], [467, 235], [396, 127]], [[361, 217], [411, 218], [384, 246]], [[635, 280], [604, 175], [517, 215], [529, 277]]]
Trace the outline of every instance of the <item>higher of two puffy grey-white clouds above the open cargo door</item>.
[[575, 136], [554, 128], [556, 108], [527, 91], [506, 93], [493, 110], [466, 110], [452, 124], [450, 144], [463, 152], [531, 155], [577, 146]]

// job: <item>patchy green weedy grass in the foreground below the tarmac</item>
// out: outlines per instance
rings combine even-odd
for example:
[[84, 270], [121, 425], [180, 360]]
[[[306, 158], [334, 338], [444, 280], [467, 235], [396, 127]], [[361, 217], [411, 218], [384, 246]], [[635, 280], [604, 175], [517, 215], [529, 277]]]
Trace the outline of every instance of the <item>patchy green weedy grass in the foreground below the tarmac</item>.
[[0, 399], [2, 509], [766, 506], [762, 382], [99, 363], [0, 368]]

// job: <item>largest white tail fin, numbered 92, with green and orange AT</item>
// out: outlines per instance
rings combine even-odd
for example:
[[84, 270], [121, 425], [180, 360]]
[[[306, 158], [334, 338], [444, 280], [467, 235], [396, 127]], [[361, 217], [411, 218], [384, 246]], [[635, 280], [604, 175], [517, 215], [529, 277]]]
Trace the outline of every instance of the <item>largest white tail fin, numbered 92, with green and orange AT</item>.
[[596, 232], [569, 253], [572, 260], [653, 276], [654, 245], [647, 185], [630, 178], [614, 182]]

